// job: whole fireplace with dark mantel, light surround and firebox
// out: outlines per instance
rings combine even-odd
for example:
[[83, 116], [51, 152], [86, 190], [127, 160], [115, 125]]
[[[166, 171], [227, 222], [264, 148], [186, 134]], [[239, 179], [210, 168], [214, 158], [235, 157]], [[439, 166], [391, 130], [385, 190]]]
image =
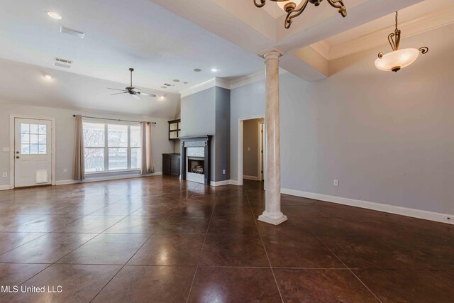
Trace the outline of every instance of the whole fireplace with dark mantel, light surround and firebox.
[[211, 136], [179, 137], [182, 143], [182, 180], [210, 184]]

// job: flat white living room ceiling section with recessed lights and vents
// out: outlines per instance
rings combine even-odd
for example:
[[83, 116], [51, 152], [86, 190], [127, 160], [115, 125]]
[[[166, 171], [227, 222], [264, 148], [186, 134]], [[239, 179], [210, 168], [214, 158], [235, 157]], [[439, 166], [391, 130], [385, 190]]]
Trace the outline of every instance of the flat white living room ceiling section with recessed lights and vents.
[[[57, 11], [62, 20], [49, 18], [47, 11]], [[60, 26], [82, 31], [85, 38], [62, 34]], [[263, 68], [257, 55], [150, 0], [1, 1], [0, 57], [47, 68], [62, 57], [74, 61], [69, 72], [123, 84], [128, 67], [135, 67], [135, 84], [151, 89], [175, 84], [170, 92]], [[210, 71], [214, 67], [216, 74]]]

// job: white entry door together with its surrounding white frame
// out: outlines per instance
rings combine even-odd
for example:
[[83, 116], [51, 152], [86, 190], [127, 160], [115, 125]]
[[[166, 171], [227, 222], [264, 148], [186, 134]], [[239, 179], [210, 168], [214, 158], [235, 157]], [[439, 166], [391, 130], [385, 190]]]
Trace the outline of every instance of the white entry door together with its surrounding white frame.
[[10, 188], [55, 185], [55, 119], [10, 118]]

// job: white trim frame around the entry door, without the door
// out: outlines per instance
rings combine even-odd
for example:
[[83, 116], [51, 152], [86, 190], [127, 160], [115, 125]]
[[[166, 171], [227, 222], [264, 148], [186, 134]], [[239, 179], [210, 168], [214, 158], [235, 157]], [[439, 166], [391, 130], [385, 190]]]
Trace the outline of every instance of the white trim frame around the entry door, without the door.
[[9, 115], [9, 188], [14, 188], [14, 136], [15, 133], [15, 124], [14, 120], [18, 119], [35, 119], [35, 120], [48, 120], [52, 127], [52, 185], [56, 184], [55, 179], [55, 118], [53, 117], [42, 117], [42, 116], [28, 116], [28, 115]]

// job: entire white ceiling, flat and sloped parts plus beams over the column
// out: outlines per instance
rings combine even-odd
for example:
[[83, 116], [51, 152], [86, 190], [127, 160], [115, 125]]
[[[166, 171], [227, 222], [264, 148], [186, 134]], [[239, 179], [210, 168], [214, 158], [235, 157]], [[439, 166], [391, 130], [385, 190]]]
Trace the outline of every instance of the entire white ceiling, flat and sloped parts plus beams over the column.
[[[438, 9], [449, 2], [428, 1], [436, 1]], [[273, 1], [267, 1], [266, 9], [256, 8], [253, 0], [0, 1], [0, 102], [173, 118], [179, 94], [171, 92], [214, 77], [232, 80], [263, 70], [257, 54], [269, 48], [284, 53], [280, 66], [294, 75], [323, 79], [326, 75], [294, 55], [294, 50], [319, 40], [328, 48], [345, 44], [379, 24], [389, 26], [389, 20], [381, 17], [419, 2], [345, 0], [347, 18], [326, 1], [317, 8], [309, 4], [287, 31], [285, 14]], [[63, 19], [49, 18], [48, 11], [61, 13]], [[371, 26], [377, 18], [382, 21]], [[82, 31], [85, 38], [62, 34], [60, 26]], [[74, 63], [70, 70], [53, 67], [54, 57]], [[167, 93], [166, 101], [110, 96], [106, 87], [123, 89], [128, 84], [128, 67], [136, 70], [135, 86]], [[196, 73], [194, 68], [203, 71]], [[211, 68], [219, 71], [213, 73]], [[54, 79], [46, 82], [43, 73]], [[164, 83], [175, 86], [162, 89]]]

